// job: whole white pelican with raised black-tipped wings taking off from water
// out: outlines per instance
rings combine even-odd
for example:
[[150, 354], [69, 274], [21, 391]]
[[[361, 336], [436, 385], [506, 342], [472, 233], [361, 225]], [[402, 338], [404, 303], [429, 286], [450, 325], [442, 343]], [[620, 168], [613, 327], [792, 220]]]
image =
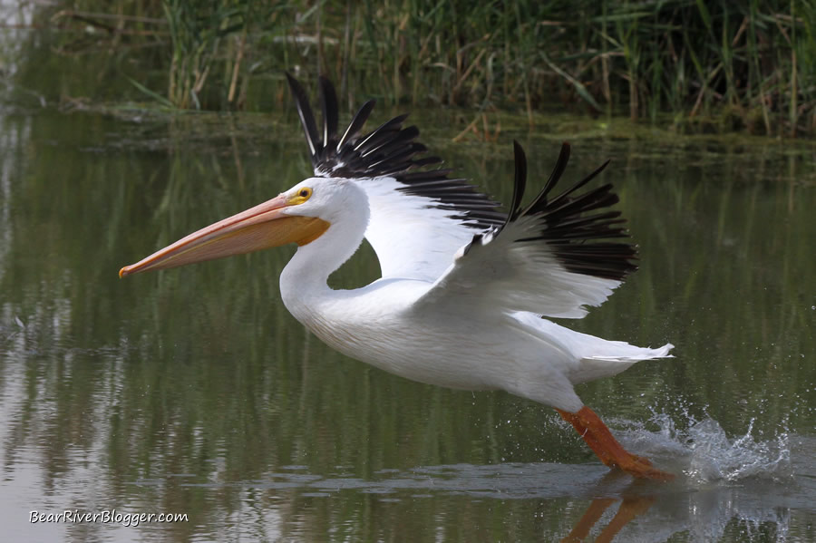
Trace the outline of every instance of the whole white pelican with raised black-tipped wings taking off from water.
[[[545, 317], [580, 318], [602, 304], [636, 266], [610, 184], [582, 189], [607, 163], [556, 192], [569, 158], [522, 206], [524, 150], [514, 141], [509, 211], [439, 162], [421, 157], [406, 115], [361, 135], [365, 102], [342, 134], [331, 82], [320, 78], [318, 128], [306, 92], [289, 74], [314, 177], [254, 208], [202, 228], [120, 276], [185, 266], [296, 243], [280, 296], [325, 344], [386, 372], [454, 389], [503, 390], [555, 408], [607, 466], [637, 478], [674, 476], [626, 451], [575, 385], [620, 373], [652, 349], [581, 334]], [[366, 238], [382, 277], [368, 286], [326, 284]]]

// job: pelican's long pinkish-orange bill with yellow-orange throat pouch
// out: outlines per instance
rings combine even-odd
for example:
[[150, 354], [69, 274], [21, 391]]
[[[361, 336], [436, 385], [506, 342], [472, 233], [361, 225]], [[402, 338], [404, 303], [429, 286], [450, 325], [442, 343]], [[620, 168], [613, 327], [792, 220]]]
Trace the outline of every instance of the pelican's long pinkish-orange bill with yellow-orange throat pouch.
[[306, 245], [329, 227], [321, 218], [287, 215], [284, 209], [292, 205], [287, 195], [281, 194], [201, 228], [136, 264], [122, 267], [119, 276], [243, 255], [287, 243]]

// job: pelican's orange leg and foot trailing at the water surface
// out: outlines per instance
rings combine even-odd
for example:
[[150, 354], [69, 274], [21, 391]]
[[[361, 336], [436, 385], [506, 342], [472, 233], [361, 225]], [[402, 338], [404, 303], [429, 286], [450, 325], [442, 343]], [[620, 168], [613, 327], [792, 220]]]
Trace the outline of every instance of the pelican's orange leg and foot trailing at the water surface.
[[652, 462], [645, 458], [624, 449], [609, 431], [607, 425], [586, 405], [574, 413], [560, 409], [556, 411], [565, 421], [575, 427], [584, 441], [587, 441], [589, 448], [595, 451], [600, 461], [610, 468], [624, 470], [633, 477], [641, 479], [672, 480], [675, 478], [671, 473], [656, 470], [652, 467]]

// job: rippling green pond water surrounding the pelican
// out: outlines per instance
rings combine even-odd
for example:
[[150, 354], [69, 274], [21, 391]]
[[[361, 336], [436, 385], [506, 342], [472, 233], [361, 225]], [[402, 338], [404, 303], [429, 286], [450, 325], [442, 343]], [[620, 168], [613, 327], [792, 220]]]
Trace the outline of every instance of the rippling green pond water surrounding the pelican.
[[[617, 186], [640, 270], [566, 324], [671, 342], [676, 357], [578, 393], [677, 480], [610, 472], [549, 408], [410, 383], [331, 351], [280, 302], [291, 247], [118, 278], [304, 179], [292, 111], [117, 119], [6, 108], [4, 538], [816, 539], [812, 148], [580, 137], [561, 118], [499, 143], [452, 144], [457, 119], [413, 117], [448, 165], [504, 199], [512, 137], [533, 187], [562, 138], [573, 143], [568, 179], [614, 159], [603, 180]], [[377, 269], [364, 247], [332, 282], [359, 286]], [[65, 509], [188, 520], [29, 522]], [[590, 528], [581, 519], [596, 511]]]

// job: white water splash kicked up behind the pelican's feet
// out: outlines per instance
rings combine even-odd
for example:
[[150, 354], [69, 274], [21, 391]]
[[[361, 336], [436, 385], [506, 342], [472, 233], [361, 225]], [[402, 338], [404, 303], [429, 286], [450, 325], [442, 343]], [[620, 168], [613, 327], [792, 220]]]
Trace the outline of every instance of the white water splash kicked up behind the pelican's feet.
[[[751, 419], [744, 435], [729, 437], [719, 422], [707, 414], [697, 420], [687, 409], [670, 416], [653, 412], [649, 422], [658, 431], [643, 424], [630, 423], [621, 432], [621, 441], [639, 453], [682, 470], [688, 481], [704, 485], [714, 481], [771, 479], [789, 480], [791, 467], [791, 434], [787, 423], [770, 439], [755, 435]], [[684, 420], [685, 419], [685, 420]]]

